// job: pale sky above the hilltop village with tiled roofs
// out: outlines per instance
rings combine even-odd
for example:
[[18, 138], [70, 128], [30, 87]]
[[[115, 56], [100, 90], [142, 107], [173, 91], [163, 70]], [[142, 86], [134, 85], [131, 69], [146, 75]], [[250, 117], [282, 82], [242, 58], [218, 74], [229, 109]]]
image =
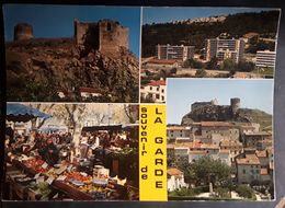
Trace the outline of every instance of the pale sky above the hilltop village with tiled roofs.
[[168, 79], [167, 84], [168, 124], [180, 124], [192, 103], [213, 99], [229, 105], [231, 97], [240, 97], [241, 107], [273, 114], [273, 80]]

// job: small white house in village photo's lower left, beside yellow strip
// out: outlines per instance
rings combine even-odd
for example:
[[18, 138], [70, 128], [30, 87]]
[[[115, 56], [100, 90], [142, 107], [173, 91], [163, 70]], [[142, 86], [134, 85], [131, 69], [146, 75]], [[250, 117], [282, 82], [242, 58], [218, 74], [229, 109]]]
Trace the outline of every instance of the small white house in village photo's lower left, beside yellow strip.
[[184, 174], [182, 171], [175, 167], [169, 167], [168, 171], [168, 192], [181, 189], [189, 185], [184, 182]]

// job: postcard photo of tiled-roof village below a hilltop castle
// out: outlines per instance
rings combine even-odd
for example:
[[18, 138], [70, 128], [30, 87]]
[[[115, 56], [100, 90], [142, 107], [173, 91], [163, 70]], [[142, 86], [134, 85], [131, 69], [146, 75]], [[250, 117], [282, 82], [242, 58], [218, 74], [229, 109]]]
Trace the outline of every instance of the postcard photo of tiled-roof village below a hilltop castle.
[[273, 80], [168, 79], [169, 200], [273, 200]]

